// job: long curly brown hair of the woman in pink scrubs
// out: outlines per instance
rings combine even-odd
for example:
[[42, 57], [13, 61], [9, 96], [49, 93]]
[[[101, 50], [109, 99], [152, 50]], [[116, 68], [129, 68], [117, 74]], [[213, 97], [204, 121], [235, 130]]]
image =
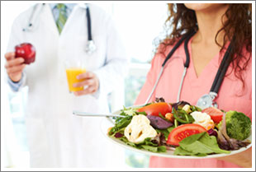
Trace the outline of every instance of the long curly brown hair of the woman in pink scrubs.
[[[161, 46], [159, 53], [162, 54], [165, 53], [169, 45], [173, 45], [189, 30], [198, 30], [196, 13], [185, 7], [183, 3], [168, 4], [168, 12], [165, 26], [167, 30], [171, 29], [171, 33], [161, 43], [163, 47]], [[235, 71], [235, 77], [242, 81], [244, 86], [242, 72], [246, 70], [252, 52], [252, 5], [249, 3], [230, 3], [224, 16], [227, 20], [222, 21], [223, 27], [218, 30], [215, 41], [221, 47], [220, 51], [222, 51], [225, 49], [226, 41], [232, 40], [233, 35], [235, 35], [233, 38], [234, 51], [230, 53], [232, 59], [230, 64], [232, 65], [232, 72]], [[225, 32], [223, 44], [217, 42], [220, 31]], [[249, 58], [243, 53], [244, 48], [250, 53]]]

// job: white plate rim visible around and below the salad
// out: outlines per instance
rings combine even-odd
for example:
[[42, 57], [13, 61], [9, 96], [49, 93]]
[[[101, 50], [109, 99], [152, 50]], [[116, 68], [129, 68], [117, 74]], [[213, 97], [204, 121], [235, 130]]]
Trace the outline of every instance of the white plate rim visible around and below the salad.
[[[117, 111], [113, 114], [120, 114], [120, 111]], [[224, 157], [224, 156], [231, 156], [231, 155], [235, 155], [241, 151], [245, 151], [247, 149], [249, 149], [249, 147], [252, 146], [252, 144], [249, 144], [249, 146], [246, 146], [246, 147], [242, 147], [240, 148], [239, 150], [236, 150], [236, 151], [230, 151], [230, 154], [213, 154], [213, 155], [208, 155], [208, 156], [175, 156], [173, 155], [174, 154], [174, 151], [170, 151], [170, 150], [167, 150], [166, 152], [164, 153], [155, 153], [155, 152], [152, 152], [152, 151], [146, 151], [146, 150], [143, 150], [143, 149], [137, 149], [133, 146], [129, 146], [129, 145], [126, 145], [125, 142], [121, 142], [121, 140], [115, 138], [115, 137], [109, 137], [108, 134], [107, 134], [107, 129], [110, 128], [110, 127], [113, 127], [115, 124], [113, 123], [113, 120], [111, 118], [104, 118], [102, 119], [102, 123], [101, 123], [101, 129], [102, 129], [102, 133], [104, 134], [105, 137], [107, 137], [108, 140], [110, 140], [111, 142], [119, 145], [119, 146], [122, 146], [126, 149], [129, 149], [131, 151], [137, 151], [137, 152], [140, 152], [140, 153], [143, 153], [143, 154], [146, 154], [146, 155], [149, 155], [149, 156], [162, 156], [162, 157], [168, 157], [168, 158], [182, 158], [182, 159], [205, 159], [205, 158], [219, 158], [219, 157]], [[251, 136], [249, 137], [249, 140], [252, 141], [252, 138]]]

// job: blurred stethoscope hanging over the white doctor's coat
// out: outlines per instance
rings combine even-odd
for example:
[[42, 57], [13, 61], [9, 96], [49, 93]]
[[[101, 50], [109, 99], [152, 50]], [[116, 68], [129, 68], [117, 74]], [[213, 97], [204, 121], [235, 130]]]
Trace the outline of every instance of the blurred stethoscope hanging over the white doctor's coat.
[[[39, 5], [40, 5], [40, 7], [39, 7]], [[85, 9], [86, 9], [86, 17], [87, 17], [87, 23], [88, 23], [88, 25], [87, 25], [87, 27], [88, 27], [88, 42], [85, 47], [85, 52], [88, 53], [88, 55], [91, 55], [92, 53], [94, 53], [96, 51], [96, 45], [94, 44], [94, 41], [92, 40], [92, 25], [91, 25], [90, 10], [89, 10], [88, 4], [79, 4], [79, 5], [80, 5], [80, 7], [85, 7]], [[28, 20], [28, 24], [25, 28], [22, 29], [22, 31], [33, 31], [35, 29], [34, 23], [39, 18], [40, 13], [42, 12], [44, 7], [45, 7], [45, 3], [36, 4], [33, 7], [31, 16], [29, 17], [29, 20]]]

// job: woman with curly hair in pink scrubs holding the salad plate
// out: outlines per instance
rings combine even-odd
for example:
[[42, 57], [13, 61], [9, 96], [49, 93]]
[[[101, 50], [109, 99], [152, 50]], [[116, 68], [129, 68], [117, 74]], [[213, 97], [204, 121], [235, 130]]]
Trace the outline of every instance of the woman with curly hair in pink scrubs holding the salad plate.
[[[177, 9], [176, 9], [177, 7]], [[252, 118], [252, 25], [251, 4], [168, 4], [168, 16], [171, 35], [159, 45], [158, 53], [152, 60], [145, 85], [135, 101], [142, 105], [153, 89], [164, 58], [173, 49], [177, 40], [194, 28], [197, 33], [188, 42], [190, 65], [183, 82], [180, 100], [192, 105], [197, 104], [201, 95], [209, 93], [218, 67], [235, 35], [235, 53], [232, 62], [220, 86], [216, 98], [219, 109], [236, 110]], [[149, 102], [163, 97], [166, 102], [177, 101], [178, 87], [183, 75], [183, 63], [186, 61], [184, 44], [169, 59], [159, 84]], [[244, 151], [224, 159], [174, 159], [151, 156], [149, 167], [251, 167], [252, 151]]]

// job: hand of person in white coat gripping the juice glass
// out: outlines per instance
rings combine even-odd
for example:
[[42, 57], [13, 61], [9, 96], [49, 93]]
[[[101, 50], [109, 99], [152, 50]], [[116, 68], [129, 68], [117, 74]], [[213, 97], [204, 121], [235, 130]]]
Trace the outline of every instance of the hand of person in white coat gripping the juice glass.
[[80, 81], [78, 83], [74, 83], [73, 87], [83, 87], [83, 86], [88, 86], [86, 89], [83, 91], [75, 91], [74, 95], [88, 95], [88, 94], [93, 94], [98, 90], [99, 87], [99, 80], [93, 72], [84, 72], [80, 75], [77, 76], [78, 80], [85, 80], [85, 81]]

